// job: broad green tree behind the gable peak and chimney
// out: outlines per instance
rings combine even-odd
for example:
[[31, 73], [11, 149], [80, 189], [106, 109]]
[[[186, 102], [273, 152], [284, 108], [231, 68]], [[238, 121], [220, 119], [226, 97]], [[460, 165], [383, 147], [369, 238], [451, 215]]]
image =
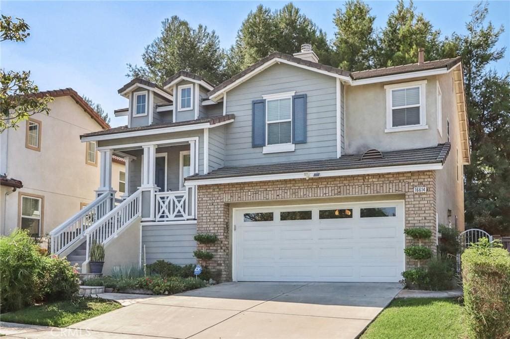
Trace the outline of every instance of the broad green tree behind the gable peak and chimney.
[[331, 62], [326, 34], [292, 3], [271, 10], [259, 5], [241, 24], [235, 44], [228, 51], [227, 71], [232, 76], [272, 52], [292, 54], [311, 43], [323, 64]]

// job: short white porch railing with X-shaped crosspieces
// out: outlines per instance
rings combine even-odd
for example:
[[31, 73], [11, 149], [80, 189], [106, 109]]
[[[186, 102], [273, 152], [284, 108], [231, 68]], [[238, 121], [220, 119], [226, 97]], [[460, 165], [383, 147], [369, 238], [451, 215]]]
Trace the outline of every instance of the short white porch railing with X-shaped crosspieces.
[[156, 221], [187, 220], [195, 217], [195, 190], [158, 192], [156, 196]]

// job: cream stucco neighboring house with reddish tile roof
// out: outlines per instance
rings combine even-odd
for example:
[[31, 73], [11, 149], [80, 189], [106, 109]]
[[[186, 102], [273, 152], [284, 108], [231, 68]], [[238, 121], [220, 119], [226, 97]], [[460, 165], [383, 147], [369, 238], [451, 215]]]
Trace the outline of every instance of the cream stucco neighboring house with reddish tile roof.
[[[83, 133], [110, 126], [72, 89], [40, 92], [52, 96], [49, 115], [36, 114], [18, 129], [0, 134], [0, 231], [15, 228], [44, 237], [94, 201], [101, 163], [95, 143]], [[113, 159], [112, 187], [117, 196], [123, 158]], [[121, 187], [122, 188], [122, 187]]]

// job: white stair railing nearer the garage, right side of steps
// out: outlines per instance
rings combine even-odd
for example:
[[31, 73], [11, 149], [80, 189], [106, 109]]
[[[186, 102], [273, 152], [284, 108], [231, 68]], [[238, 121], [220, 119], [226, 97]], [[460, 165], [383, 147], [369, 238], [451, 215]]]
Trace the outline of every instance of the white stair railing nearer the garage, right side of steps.
[[120, 203], [113, 210], [99, 219], [90, 227], [85, 235], [87, 236], [87, 260], [90, 247], [96, 241], [105, 244], [114, 238], [120, 231], [129, 225], [134, 219], [142, 214], [142, 191], [138, 190], [131, 194], [126, 200]]

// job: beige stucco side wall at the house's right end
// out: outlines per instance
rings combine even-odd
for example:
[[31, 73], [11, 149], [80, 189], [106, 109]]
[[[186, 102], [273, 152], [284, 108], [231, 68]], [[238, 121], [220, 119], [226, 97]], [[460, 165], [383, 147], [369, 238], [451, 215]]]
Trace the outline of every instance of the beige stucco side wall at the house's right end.
[[[461, 149], [460, 125], [457, 115], [455, 96], [453, 94], [453, 72], [439, 75], [437, 81], [442, 93], [442, 135], [435, 129], [440, 143], [448, 140], [447, 120], [450, 120], [450, 143], [451, 149], [443, 170], [438, 171], [437, 181], [437, 206], [438, 222], [448, 225], [451, 222], [455, 227], [455, 216], [458, 220], [458, 230], [463, 231], [464, 225], [464, 171]], [[436, 87], [436, 81], [434, 82]], [[434, 106], [436, 107], [436, 106]], [[458, 149], [458, 155], [457, 155]], [[458, 167], [457, 167], [458, 161]], [[457, 180], [458, 170], [458, 180]], [[448, 210], [451, 210], [451, 218], [448, 218]]]

